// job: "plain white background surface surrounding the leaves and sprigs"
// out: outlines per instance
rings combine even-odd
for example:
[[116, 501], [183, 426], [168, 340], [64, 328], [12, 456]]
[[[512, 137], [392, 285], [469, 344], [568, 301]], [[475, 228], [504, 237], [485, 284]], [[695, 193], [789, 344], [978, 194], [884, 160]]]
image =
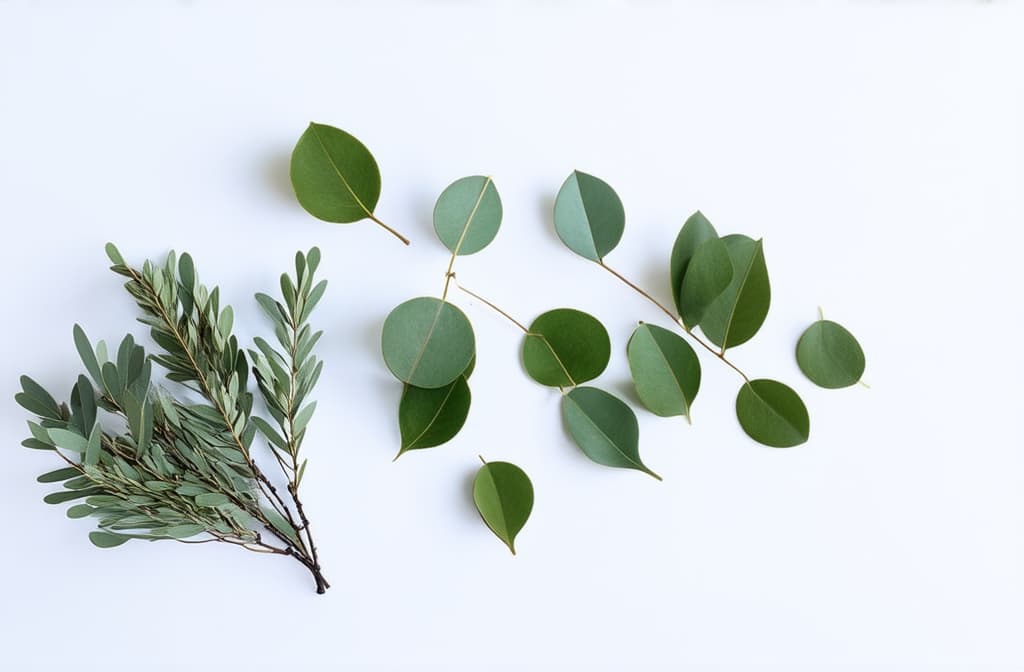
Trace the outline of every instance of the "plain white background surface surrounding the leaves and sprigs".
[[[304, 490], [334, 587], [230, 547], [93, 548], [41, 502], [52, 457], [18, 447], [4, 402], [5, 669], [1024, 669], [1024, 3], [278, 5], [0, 2], [0, 391], [31, 373], [66, 394], [76, 322], [145, 338], [109, 240], [135, 263], [190, 251], [246, 341], [266, 327], [253, 292], [321, 246]], [[375, 153], [377, 213], [412, 247], [298, 207], [310, 120]], [[664, 321], [553, 235], [573, 168], [626, 204], [608, 263], [666, 301], [693, 210], [764, 237], [772, 310], [734, 359], [800, 391], [810, 443], [749, 440], [738, 377], [706, 361], [692, 427], [638, 410], [665, 482], [594, 465], [519, 333], [456, 294], [470, 419], [392, 464], [380, 325], [439, 293], [430, 213], [463, 175], [494, 175], [505, 220], [459, 279], [522, 321], [598, 316], [598, 384], [633, 398], [626, 339]], [[870, 389], [801, 376], [818, 305], [860, 338]], [[534, 479], [516, 557], [472, 508], [477, 454]]]

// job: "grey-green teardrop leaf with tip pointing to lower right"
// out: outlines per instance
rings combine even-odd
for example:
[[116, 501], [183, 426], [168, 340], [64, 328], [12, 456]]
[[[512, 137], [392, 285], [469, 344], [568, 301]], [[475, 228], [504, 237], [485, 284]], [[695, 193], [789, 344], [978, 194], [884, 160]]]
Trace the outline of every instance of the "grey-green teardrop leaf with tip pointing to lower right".
[[562, 396], [562, 413], [572, 439], [587, 457], [662, 479], [640, 460], [637, 417], [617, 397], [596, 387], [577, 387]]

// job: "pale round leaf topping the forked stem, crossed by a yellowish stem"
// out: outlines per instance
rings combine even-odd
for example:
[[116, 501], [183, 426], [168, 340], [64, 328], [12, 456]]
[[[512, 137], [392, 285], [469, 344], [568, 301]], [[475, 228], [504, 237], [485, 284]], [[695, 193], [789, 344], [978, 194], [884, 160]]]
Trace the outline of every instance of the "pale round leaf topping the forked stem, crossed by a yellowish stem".
[[456, 254], [479, 252], [498, 235], [502, 200], [489, 177], [476, 175], [452, 182], [434, 205], [434, 230]]

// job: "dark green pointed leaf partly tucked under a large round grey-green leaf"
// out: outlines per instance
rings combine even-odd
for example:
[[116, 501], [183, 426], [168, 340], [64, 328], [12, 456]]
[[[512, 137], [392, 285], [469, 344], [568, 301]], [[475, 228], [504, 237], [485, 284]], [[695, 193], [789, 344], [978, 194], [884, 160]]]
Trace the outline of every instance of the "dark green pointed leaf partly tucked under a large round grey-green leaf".
[[398, 455], [440, 446], [454, 438], [469, 415], [470, 398], [465, 375], [434, 389], [407, 384], [398, 405], [398, 429], [401, 432]]

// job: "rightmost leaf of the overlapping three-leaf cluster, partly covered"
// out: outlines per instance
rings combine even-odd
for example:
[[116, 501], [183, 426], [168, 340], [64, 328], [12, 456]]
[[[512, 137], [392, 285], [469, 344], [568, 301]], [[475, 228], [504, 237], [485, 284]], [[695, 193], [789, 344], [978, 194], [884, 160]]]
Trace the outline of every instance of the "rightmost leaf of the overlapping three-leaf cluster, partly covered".
[[733, 235], [722, 242], [732, 260], [732, 282], [705, 310], [700, 330], [724, 350], [745, 343], [758, 333], [768, 316], [771, 288], [761, 241]]

